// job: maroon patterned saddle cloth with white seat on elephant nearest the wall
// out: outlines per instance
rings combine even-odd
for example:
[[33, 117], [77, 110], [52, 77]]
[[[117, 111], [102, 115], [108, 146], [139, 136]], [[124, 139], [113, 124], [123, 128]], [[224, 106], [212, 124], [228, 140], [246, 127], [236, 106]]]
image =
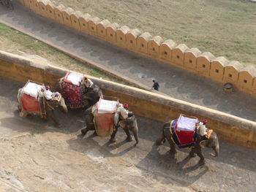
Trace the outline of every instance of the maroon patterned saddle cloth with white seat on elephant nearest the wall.
[[67, 72], [66, 76], [61, 78], [59, 82], [61, 95], [70, 108], [86, 106], [86, 101], [83, 99], [83, 88], [80, 85], [82, 78], [83, 76], [80, 74]]

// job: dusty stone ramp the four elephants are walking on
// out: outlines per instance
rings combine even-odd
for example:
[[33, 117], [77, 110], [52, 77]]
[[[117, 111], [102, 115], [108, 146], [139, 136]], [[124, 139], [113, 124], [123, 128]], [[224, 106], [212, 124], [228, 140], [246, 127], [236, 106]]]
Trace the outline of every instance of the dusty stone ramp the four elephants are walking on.
[[23, 85], [0, 77], [0, 191], [255, 191], [256, 152], [220, 141], [218, 158], [204, 149], [206, 166], [170, 155], [155, 139], [162, 123], [138, 117], [140, 143], [118, 131], [108, 139], [80, 137], [83, 113], [57, 112], [61, 128], [39, 117], [20, 118], [16, 92]]

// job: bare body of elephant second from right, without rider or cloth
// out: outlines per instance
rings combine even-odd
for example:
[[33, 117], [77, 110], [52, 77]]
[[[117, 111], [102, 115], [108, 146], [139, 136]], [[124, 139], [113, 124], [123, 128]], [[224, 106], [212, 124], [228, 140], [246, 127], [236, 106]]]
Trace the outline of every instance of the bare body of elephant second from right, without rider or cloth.
[[[83, 136], [85, 136], [88, 131], [94, 131], [94, 134], [97, 134], [94, 126], [94, 115], [91, 113], [91, 108], [92, 107], [89, 107], [89, 109], [86, 110], [86, 128], [81, 129], [81, 133]], [[119, 127], [124, 128], [124, 131], [127, 134], [127, 139], [126, 139], [127, 142], [132, 141], [132, 137], [129, 132], [129, 131], [132, 131], [135, 137], [135, 141], [136, 141], [135, 146], [136, 146], [139, 142], [138, 123], [133, 112], [129, 112], [128, 118], [126, 120], [121, 120], [119, 118], [117, 126], [115, 126], [114, 128], [113, 134], [111, 134], [110, 142], [116, 142], [115, 137]]]

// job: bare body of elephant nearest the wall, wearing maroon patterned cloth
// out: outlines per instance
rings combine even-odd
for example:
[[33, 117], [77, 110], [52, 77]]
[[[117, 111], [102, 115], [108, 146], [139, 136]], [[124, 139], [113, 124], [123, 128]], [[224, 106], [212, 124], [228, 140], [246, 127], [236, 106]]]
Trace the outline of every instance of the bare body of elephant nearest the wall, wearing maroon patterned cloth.
[[[59, 93], [61, 93], [65, 98], [65, 94], [61, 88], [62, 81], [63, 81], [63, 78], [56, 81], [56, 91], [59, 91]], [[99, 98], [102, 97], [102, 90], [99, 88], [98, 85], [94, 84], [92, 88], [86, 88], [84, 84], [80, 86], [83, 92], [83, 102], [84, 102], [84, 105], [82, 107], [84, 107], [85, 109], [96, 104], [97, 101], [99, 101]], [[67, 105], [69, 106], [69, 104]], [[81, 107], [75, 107], [75, 108], [81, 108]]]

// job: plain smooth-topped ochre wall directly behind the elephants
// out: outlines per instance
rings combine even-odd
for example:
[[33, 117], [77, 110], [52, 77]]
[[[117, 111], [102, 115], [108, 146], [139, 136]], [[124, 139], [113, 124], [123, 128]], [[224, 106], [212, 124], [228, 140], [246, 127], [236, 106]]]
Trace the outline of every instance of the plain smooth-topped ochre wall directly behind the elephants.
[[[66, 70], [40, 61], [33, 61], [19, 55], [0, 51], [0, 76], [23, 82], [34, 80], [54, 88], [59, 77], [64, 77]], [[145, 118], [166, 122], [177, 118], [181, 113], [193, 115], [200, 120], [208, 119], [208, 127], [217, 131], [220, 139], [238, 145], [256, 149], [256, 123], [223, 112], [200, 107], [185, 101], [143, 91], [127, 85], [90, 77], [106, 96], [116, 96], [119, 101], [129, 103], [129, 110]], [[161, 134], [161, 127], [159, 135]], [[159, 135], [156, 135], [159, 137]]]

